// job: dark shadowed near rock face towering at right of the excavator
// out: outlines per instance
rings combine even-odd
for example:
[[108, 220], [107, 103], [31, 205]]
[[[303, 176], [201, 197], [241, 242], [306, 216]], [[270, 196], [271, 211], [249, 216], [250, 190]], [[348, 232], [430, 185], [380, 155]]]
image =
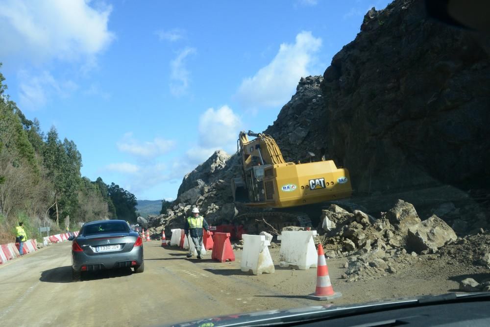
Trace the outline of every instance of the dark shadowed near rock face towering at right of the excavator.
[[489, 40], [428, 19], [423, 1], [368, 12], [321, 83], [322, 148], [349, 169], [357, 190], [485, 185]]

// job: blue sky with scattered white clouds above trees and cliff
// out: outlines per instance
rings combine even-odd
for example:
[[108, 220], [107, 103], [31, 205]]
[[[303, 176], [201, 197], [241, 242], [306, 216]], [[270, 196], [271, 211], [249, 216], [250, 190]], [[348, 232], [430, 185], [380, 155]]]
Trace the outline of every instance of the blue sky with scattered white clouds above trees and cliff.
[[82, 176], [173, 200], [390, 2], [0, 0], [1, 72], [28, 119], [75, 142]]

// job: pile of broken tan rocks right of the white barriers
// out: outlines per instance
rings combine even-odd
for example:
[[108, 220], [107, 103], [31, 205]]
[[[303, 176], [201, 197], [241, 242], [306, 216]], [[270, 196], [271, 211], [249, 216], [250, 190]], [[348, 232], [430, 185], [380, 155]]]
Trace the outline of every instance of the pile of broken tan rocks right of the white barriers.
[[439, 217], [421, 221], [415, 207], [403, 200], [378, 219], [332, 204], [322, 210], [320, 227], [317, 242], [324, 245], [325, 255], [347, 258], [342, 276], [347, 281], [396, 274], [415, 260], [437, 258], [434, 253], [457, 240]]

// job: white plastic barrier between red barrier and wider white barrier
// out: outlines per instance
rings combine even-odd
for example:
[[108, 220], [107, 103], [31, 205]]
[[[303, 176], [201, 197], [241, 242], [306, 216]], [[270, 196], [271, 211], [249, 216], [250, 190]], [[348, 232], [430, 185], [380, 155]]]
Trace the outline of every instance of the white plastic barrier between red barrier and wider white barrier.
[[270, 257], [268, 243], [264, 235], [243, 234], [244, 249], [240, 268], [243, 272], [252, 271], [254, 275], [275, 272], [274, 263]]

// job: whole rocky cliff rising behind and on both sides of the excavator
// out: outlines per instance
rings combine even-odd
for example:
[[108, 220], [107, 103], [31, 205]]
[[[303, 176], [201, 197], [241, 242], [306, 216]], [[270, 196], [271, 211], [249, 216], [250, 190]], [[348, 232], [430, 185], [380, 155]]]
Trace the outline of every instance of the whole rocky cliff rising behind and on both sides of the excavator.
[[[323, 76], [301, 78], [264, 132], [287, 161], [305, 162], [313, 152], [313, 160], [348, 168], [356, 196], [371, 199], [355, 201], [370, 213], [403, 199], [424, 218], [450, 208], [439, 215], [459, 232], [486, 228], [489, 54], [488, 35], [427, 18], [421, 0], [393, 1], [368, 11]], [[212, 220], [233, 219], [244, 210], [230, 203], [229, 180], [238, 175], [236, 155], [215, 152], [184, 177], [173, 211], [161, 219], [184, 216], [192, 205]], [[412, 193], [396, 194], [406, 190]]]

